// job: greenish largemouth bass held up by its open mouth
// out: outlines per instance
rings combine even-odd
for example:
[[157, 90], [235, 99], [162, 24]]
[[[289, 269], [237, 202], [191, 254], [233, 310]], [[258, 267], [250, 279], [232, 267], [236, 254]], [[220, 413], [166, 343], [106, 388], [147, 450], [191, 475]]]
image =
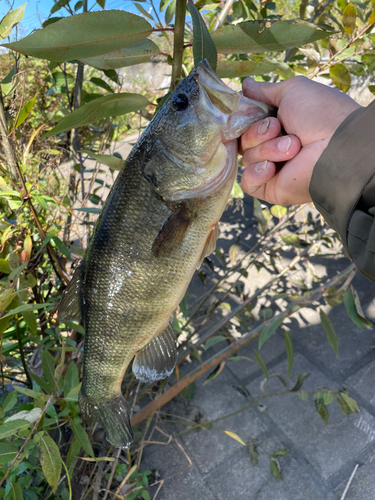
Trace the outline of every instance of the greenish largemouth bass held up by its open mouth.
[[146, 383], [173, 373], [173, 312], [215, 249], [237, 176], [238, 138], [272, 113], [201, 61], [150, 121], [105, 201], [58, 320], [82, 321], [79, 406], [117, 448], [134, 439], [121, 392], [125, 371], [133, 361]]

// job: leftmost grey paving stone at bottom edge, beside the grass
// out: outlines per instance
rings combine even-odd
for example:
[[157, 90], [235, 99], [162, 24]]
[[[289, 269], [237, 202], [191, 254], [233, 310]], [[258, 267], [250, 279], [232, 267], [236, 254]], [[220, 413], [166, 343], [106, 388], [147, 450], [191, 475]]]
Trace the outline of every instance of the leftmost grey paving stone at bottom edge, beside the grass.
[[[160, 480], [165, 479], [158, 500], [217, 500], [207, 488], [198, 469], [189, 462], [175, 443], [152, 445], [143, 452], [141, 470], [157, 470]], [[173, 477], [170, 477], [173, 476]], [[157, 486], [150, 488], [151, 498]]]

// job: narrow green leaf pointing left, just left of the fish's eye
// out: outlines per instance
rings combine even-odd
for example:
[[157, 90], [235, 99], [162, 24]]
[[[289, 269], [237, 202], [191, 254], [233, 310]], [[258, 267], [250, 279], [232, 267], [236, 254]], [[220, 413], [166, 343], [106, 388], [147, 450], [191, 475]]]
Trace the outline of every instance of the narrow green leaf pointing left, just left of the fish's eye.
[[84, 127], [109, 116], [121, 116], [138, 111], [148, 104], [148, 99], [140, 94], [119, 93], [99, 97], [81, 106], [69, 116], [63, 118], [44, 139], [68, 130]]

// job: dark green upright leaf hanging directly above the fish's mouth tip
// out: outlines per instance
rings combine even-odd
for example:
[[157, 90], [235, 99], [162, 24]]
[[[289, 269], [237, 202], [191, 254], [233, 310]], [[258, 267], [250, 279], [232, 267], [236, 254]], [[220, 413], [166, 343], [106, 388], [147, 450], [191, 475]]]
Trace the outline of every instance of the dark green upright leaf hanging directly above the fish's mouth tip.
[[196, 68], [203, 59], [207, 59], [211, 68], [216, 71], [217, 51], [206, 23], [191, 0], [188, 1], [187, 8], [193, 20], [194, 67]]

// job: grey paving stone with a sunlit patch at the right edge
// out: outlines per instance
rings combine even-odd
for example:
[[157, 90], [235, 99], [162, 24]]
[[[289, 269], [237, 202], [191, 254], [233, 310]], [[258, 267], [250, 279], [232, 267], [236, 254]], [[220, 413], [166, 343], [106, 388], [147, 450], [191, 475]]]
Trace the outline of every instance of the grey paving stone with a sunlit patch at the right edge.
[[[273, 371], [285, 374], [286, 362], [280, 363]], [[306, 358], [298, 354], [295, 356], [291, 380], [295, 381], [302, 372], [311, 374], [305, 381], [303, 390], [316, 390], [319, 387], [338, 388]], [[262, 377], [247, 386], [253, 397], [262, 394], [261, 380]], [[283, 385], [275, 377], [271, 378], [269, 389], [265, 388], [270, 392], [283, 389]], [[267, 417], [325, 480], [375, 438], [375, 419], [364, 409], [358, 414], [345, 416], [338, 409], [336, 402], [333, 402], [328, 406], [329, 423], [325, 427], [314, 408], [311, 396], [307, 401], [301, 401], [294, 394], [272, 396], [264, 401], [264, 404], [267, 406]], [[275, 433], [277, 434], [276, 431]]]

